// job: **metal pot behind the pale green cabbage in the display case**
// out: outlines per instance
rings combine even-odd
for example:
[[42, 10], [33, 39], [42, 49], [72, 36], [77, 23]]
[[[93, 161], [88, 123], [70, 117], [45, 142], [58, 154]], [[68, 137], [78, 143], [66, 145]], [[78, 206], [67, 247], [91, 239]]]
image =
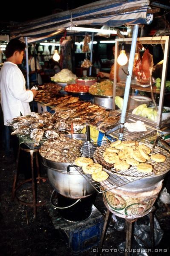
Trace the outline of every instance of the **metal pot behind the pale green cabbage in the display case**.
[[129, 97], [127, 109], [131, 110], [142, 104], [147, 104], [147, 106], [149, 106], [150, 102], [152, 102], [152, 99], [149, 97], [145, 97], [141, 95], [133, 95]]

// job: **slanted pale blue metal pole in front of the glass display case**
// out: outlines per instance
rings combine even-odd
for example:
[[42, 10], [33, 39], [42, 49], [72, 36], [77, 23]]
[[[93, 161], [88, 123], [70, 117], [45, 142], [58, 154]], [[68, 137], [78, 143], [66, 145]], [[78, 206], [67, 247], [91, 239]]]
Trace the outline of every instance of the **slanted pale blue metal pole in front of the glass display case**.
[[132, 79], [132, 71], [133, 71], [133, 62], [134, 62], [134, 57], [135, 57], [135, 49], [136, 49], [136, 41], [138, 37], [138, 25], [134, 26], [133, 29], [133, 36], [132, 36], [132, 45], [130, 49], [130, 58], [129, 58], [129, 66], [128, 66], [128, 75], [127, 75], [127, 80], [126, 80], [126, 87], [124, 91], [124, 103], [123, 103], [123, 108], [121, 112], [121, 128], [119, 131], [119, 138], [123, 138], [123, 131], [124, 131], [124, 120], [126, 116], [126, 111], [127, 111], [127, 102], [129, 99], [129, 92], [130, 92], [130, 83]]

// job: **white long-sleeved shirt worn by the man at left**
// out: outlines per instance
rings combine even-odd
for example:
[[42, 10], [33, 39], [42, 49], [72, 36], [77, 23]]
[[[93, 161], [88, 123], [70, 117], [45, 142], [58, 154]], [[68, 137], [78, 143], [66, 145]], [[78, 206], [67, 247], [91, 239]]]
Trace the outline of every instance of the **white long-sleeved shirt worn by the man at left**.
[[26, 90], [26, 81], [23, 73], [16, 64], [6, 61], [0, 70], [1, 105], [4, 125], [6, 120], [31, 113], [29, 102], [33, 100], [33, 93]]

